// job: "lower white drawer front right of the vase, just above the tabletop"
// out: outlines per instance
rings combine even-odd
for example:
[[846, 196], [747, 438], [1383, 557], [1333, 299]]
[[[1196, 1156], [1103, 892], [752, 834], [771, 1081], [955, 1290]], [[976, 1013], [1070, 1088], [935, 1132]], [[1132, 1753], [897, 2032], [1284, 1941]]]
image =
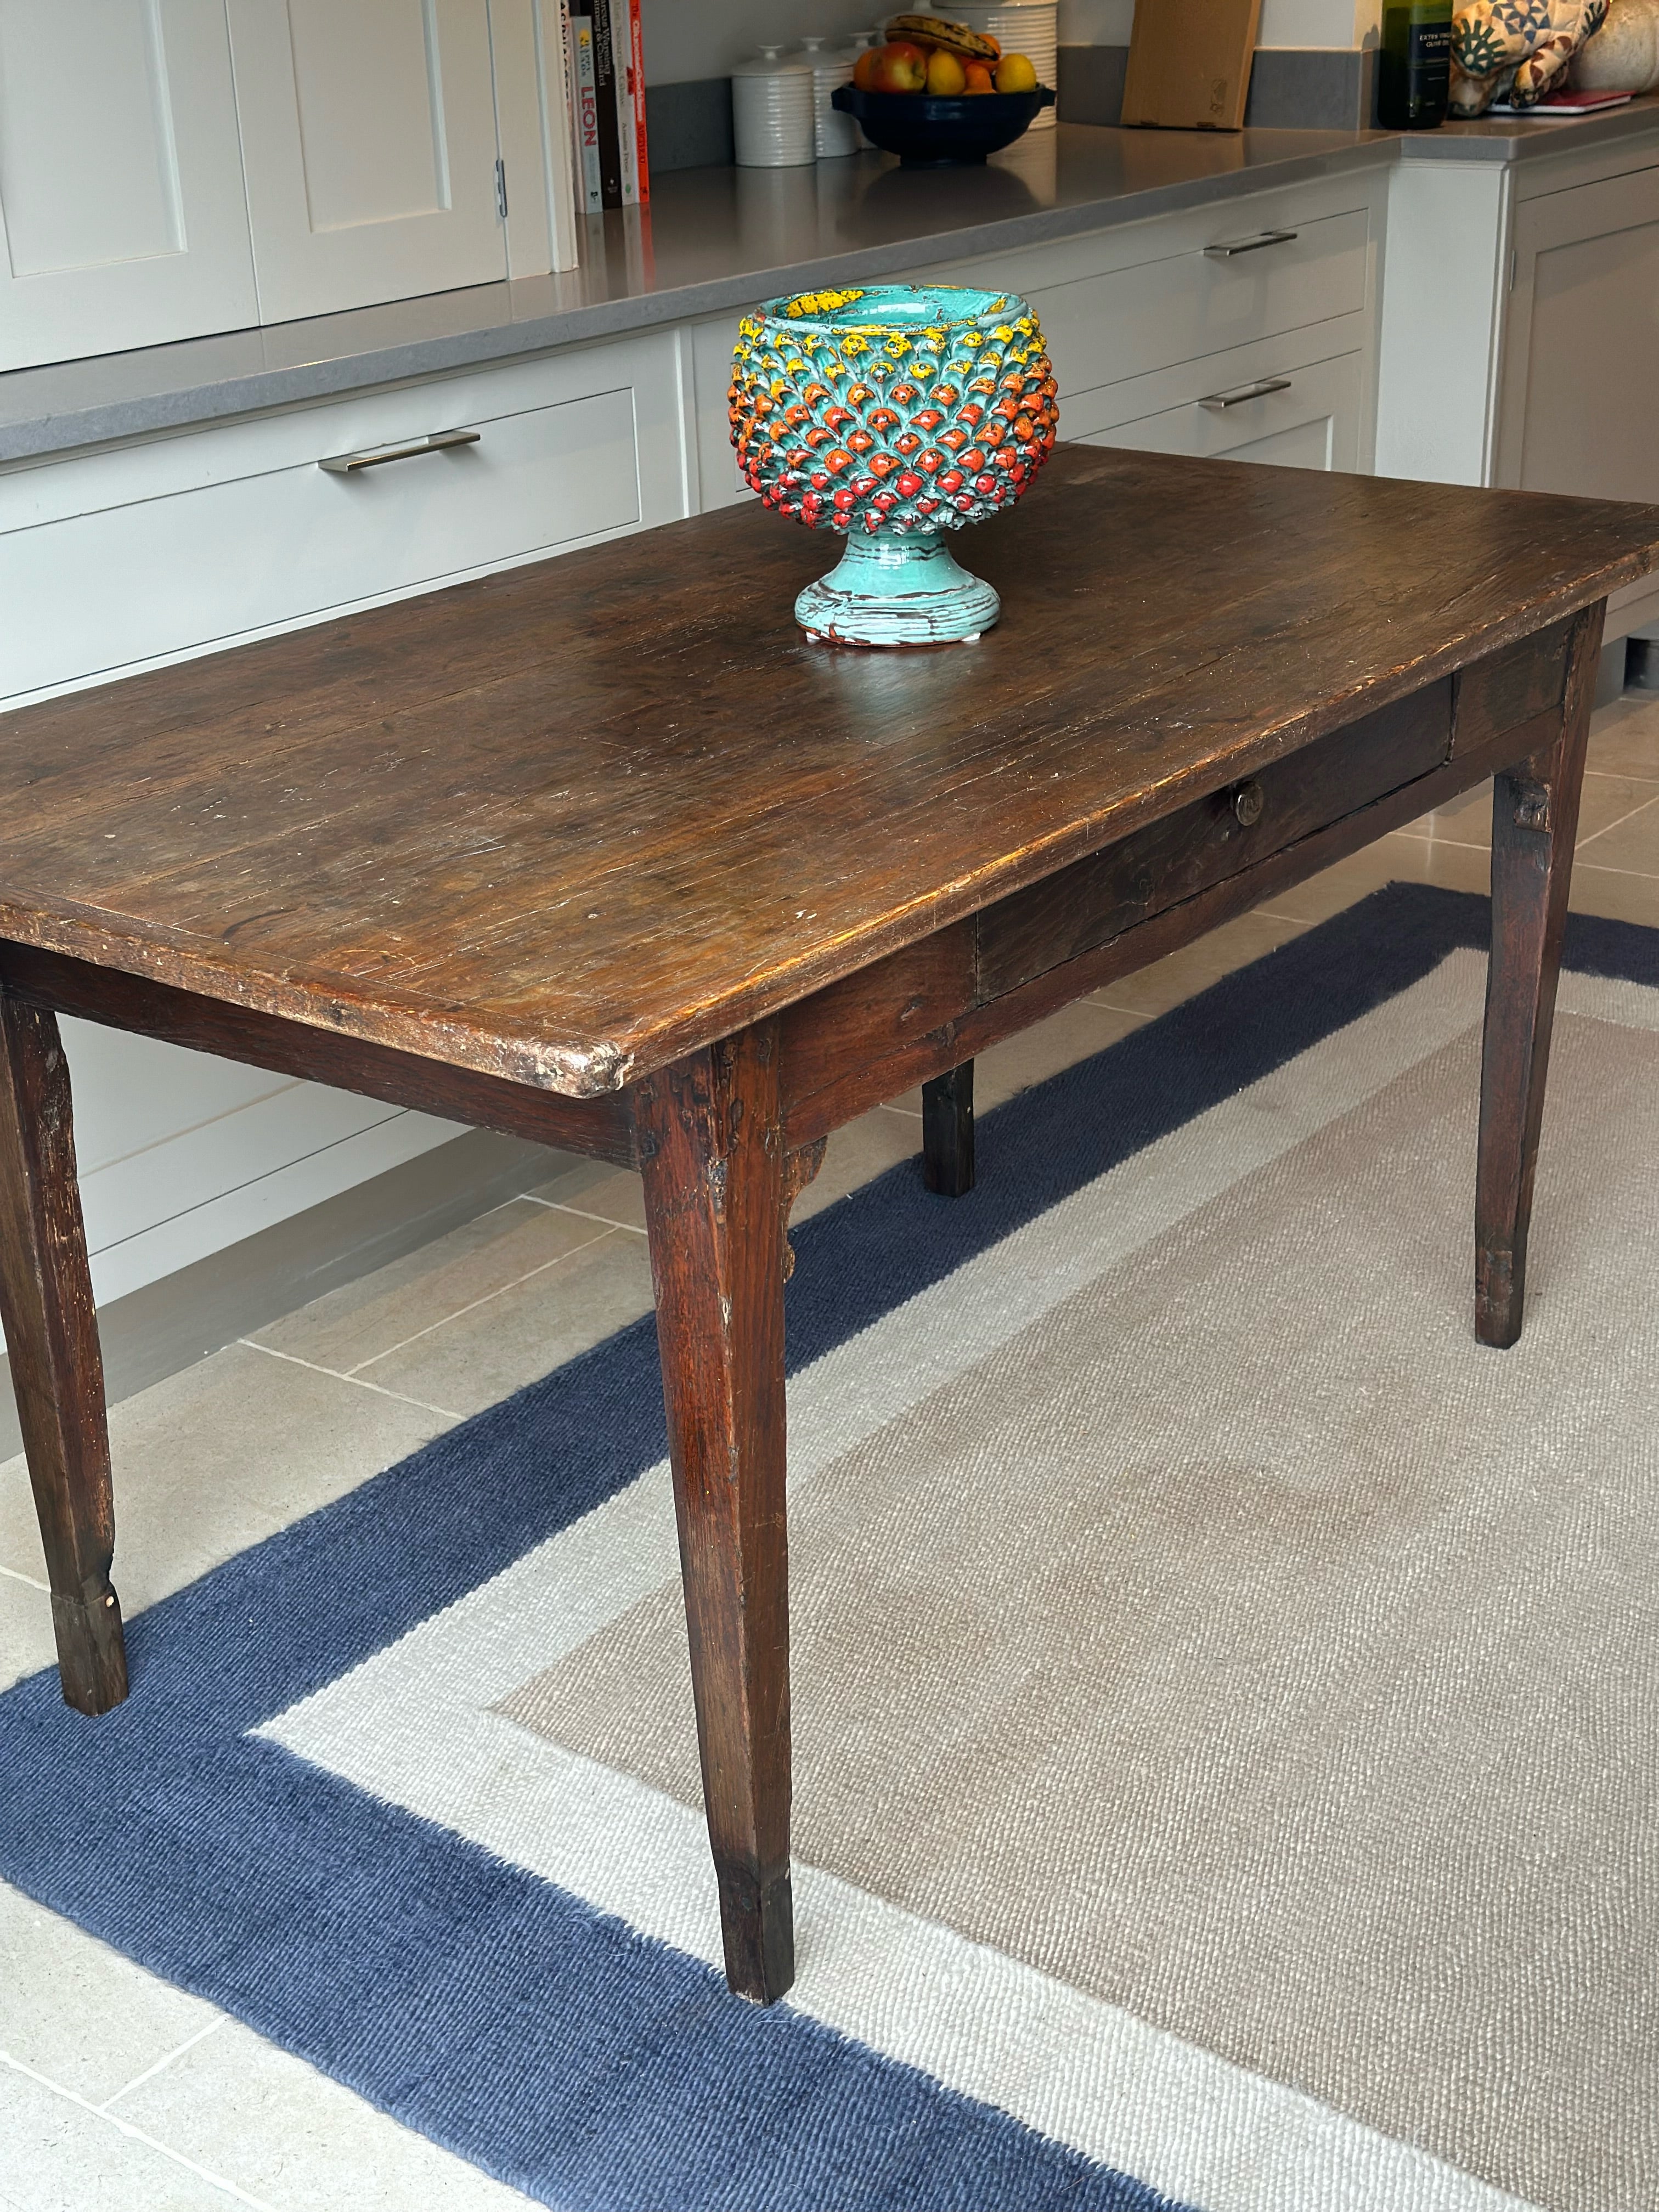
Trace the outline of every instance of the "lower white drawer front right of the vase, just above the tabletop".
[[[1203, 363], [1179, 372], [1181, 383], [1190, 385], [1194, 369], [1201, 372]], [[1128, 445], [1144, 453], [1197, 453], [1210, 460], [1259, 460], [1290, 469], [1358, 469], [1360, 354], [1292, 363], [1283, 369], [1265, 363], [1237, 383], [1230, 378], [1212, 383], [1206, 376], [1197, 380], [1206, 389], [1183, 405], [1084, 431], [1077, 442]], [[1075, 436], [1064, 414], [1060, 427]]]

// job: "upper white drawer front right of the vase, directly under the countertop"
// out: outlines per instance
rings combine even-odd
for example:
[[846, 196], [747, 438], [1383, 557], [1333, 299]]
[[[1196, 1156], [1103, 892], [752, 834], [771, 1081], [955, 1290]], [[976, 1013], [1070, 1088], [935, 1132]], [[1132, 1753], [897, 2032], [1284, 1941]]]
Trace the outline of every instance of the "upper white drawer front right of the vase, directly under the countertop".
[[[1217, 243], [1252, 234], [1228, 228], [1225, 208], [1217, 210], [1214, 232]], [[1062, 400], [1356, 314], [1365, 307], [1367, 232], [1369, 217], [1356, 208], [1301, 223], [1290, 239], [1228, 259], [1172, 254], [1033, 292]]]

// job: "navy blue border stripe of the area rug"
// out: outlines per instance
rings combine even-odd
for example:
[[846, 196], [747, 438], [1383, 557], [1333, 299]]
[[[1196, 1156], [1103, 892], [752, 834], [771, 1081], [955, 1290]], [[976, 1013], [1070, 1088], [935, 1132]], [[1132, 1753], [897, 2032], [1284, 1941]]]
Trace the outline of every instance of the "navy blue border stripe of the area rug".
[[[790, 1365], [1482, 945], [1391, 885], [980, 1124], [980, 1188], [914, 1164], [796, 1232]], [[1568, 964], [1659, 984], [1659, 931]], [[246, 1730], [478, 1588], [664, 1455], [650, 1318], [131, 1624], [97, 1723], [0, 1697], [0, 1874], [546, 2203], [1113, 2208], [1161, 2199], [385, 1807]], [[117, 1500], [119, 1513], [119, 1500]], [[117, 1577], [119, 1579], [119, 1577]], [[1168, 2212], [1168, 2208], [1166, 2208]]]

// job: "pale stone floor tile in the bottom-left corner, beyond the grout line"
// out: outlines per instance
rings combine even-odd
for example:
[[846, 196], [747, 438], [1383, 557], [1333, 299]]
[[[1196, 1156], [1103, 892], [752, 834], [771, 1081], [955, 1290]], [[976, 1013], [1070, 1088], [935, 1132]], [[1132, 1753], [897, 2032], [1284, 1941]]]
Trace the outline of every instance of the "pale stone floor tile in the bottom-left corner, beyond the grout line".
[[230, 2212], [230, 2205], [263, 2212], [259, 2197], [192, 2172], [4, 2057], [0, 2203], [18, 2212]]

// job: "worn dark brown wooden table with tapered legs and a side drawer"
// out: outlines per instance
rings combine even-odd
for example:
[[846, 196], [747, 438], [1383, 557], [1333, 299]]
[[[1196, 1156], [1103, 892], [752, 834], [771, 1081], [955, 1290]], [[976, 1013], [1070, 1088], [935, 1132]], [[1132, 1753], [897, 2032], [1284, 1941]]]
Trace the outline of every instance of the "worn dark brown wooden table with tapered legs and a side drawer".
[[825, 1137], [1498, 772], [1475, 1332], [1520, 1334], [1601, 602], [1659, 509], [1064, 449], [973, 646], [754, 507], [0, 719], [0, 1301], [64, 1697], [126, 1694], [58, 1013], [646, 1186], [732, 1989], [790, 1986], [785, 1228]]

